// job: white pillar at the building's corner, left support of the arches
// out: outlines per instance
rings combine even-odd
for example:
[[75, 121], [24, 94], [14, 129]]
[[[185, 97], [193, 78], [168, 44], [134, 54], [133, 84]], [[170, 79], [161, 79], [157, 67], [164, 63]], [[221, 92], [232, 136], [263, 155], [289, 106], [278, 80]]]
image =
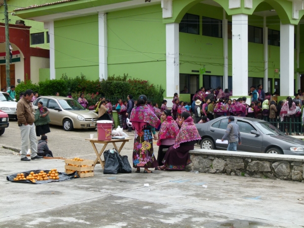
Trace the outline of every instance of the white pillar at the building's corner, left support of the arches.
[[179, 24], [166, 24], [166, 95], [179, 93]]

